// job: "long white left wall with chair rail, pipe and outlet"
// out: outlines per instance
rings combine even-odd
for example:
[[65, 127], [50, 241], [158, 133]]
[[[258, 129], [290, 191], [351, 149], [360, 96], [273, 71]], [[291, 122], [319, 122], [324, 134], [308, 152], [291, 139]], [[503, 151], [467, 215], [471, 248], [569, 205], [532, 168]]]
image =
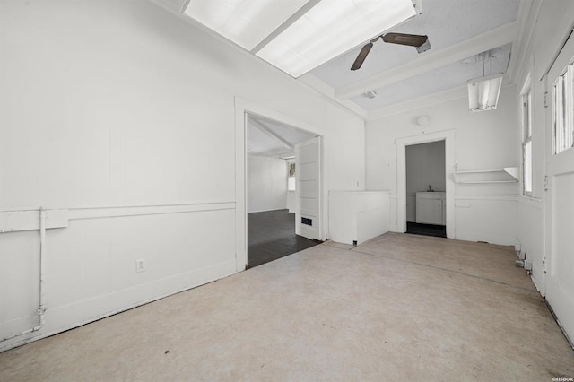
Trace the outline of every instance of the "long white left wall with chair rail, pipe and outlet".
[[[70, 218], [46, 326], [0, 350], [240, 268], [238, 97], [316, 127], [326, 187], [364, 187], [361, 117], [150, 2], [3, 1], [0, 35], [0, 210]], [[38, 253], [0, 234], [0, 338], [36, 325]]]

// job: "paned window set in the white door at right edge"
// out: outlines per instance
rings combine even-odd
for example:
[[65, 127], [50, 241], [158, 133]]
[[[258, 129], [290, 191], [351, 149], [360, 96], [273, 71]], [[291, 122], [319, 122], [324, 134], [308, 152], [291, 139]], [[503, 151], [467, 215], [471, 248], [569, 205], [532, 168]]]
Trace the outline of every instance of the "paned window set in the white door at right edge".
[[552, 85], [552, 153], [574, 145], [574, 64], [570, 62]]

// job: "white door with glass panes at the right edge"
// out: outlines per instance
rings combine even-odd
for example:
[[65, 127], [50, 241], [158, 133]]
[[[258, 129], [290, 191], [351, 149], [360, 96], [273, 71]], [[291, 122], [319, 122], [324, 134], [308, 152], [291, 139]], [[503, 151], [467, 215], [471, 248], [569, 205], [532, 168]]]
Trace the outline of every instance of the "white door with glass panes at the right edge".
[[[574, 339], [574, 148], [553, 154], [555, 142], [560, 143], [562, 137], [554, 136], [552, 114], [556, 97], [552, 94], [553, 84], [564, 73], [564, 69], [574, 57], [574, 38], [570, 38], [562, 49], [561, 55], [552, 65], [548, 74], [548, 94], [552, 95], [552, 107], [547, 108], [547, 137], [546, 144], [546, 181], [545, 192], [545, 251], [546, 268], [546, 300], [556, 314], [564, 331]], [[574, 71], [570, 72], [574, 74]], [[567, 78], [568, 75], [565, 77]], [[569, 79], [573, 81], [572, 78]], [[570, 108], [571, 96], [564, 102]], [[558, 99], [560, 102], [560, 100]], [[568, 117], [567, 123], [568, 123]], [[570, 123], [572, 123], [570, 121]]]

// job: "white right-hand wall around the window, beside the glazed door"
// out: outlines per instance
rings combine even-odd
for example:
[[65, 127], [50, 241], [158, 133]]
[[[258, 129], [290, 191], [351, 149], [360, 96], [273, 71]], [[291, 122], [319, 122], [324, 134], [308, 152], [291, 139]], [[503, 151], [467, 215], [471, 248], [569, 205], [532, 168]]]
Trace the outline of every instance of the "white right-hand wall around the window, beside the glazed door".
[[[541, 4], [539, 4], [541, 3]], [[545, 294], [544, 252], [547, 239], [545, 238], [546, 227], [544, 226], [544, 206], [546, 204], [546, 191], [544, 191], [544, 174], [546, 158], [550, 155], [550, 123], [548, 111], [544, 108], [544, 92], [547, 91], [543, 79], [544, 74], [552, 63], [554, 55], [561, 48], [561, 42], [569, 34], [571, 28], [571, 14], [574, 13], [574, 3], [570, 0], [555, 0], [552, 2], [536, 2], [540, 5], [539, 13], [535, 14], [534, 31], [529, 44], [521, 50], [524, 60], [517, 74], [517, 91], [515, 102], [520, 105], [519, 94], [522, 86], [530, 74], [532, 77], [532, 118], [533, 118], [533, 194], [532, 197], [518, 197], [518, 227], [517, 238], [521, 244], [523, 255], [526, 260], [532, 261], [532, 278], [536, 287]], [[541, 80], [543, 79], [543, 80]], [[550, 102], [550, 98], [548, 99]], [[519, 109], [518, 109], [519, 110]], [[517, 121], [519, 122], [519, 120]], [[521, 160], [520, 124], [516, 126], [516, 144], [518, 147], [517, 157]], [[574, 189], [570, 190], [574, 195]], [[565, 228], [574, 231], [574, 226]], [[547, 258], [547, 262], [551, 260]], [[574, 291], [570, 291], [574, 294]], [[570, 334], [570, 338], [571, 338]]]

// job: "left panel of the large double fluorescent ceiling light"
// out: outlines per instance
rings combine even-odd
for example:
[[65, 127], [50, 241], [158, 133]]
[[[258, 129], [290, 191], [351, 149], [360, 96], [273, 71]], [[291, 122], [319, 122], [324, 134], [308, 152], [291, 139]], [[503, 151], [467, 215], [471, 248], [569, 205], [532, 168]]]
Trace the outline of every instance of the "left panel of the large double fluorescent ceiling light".
[[251, 50], [309, 0], [190, 0], [184, 13]]

